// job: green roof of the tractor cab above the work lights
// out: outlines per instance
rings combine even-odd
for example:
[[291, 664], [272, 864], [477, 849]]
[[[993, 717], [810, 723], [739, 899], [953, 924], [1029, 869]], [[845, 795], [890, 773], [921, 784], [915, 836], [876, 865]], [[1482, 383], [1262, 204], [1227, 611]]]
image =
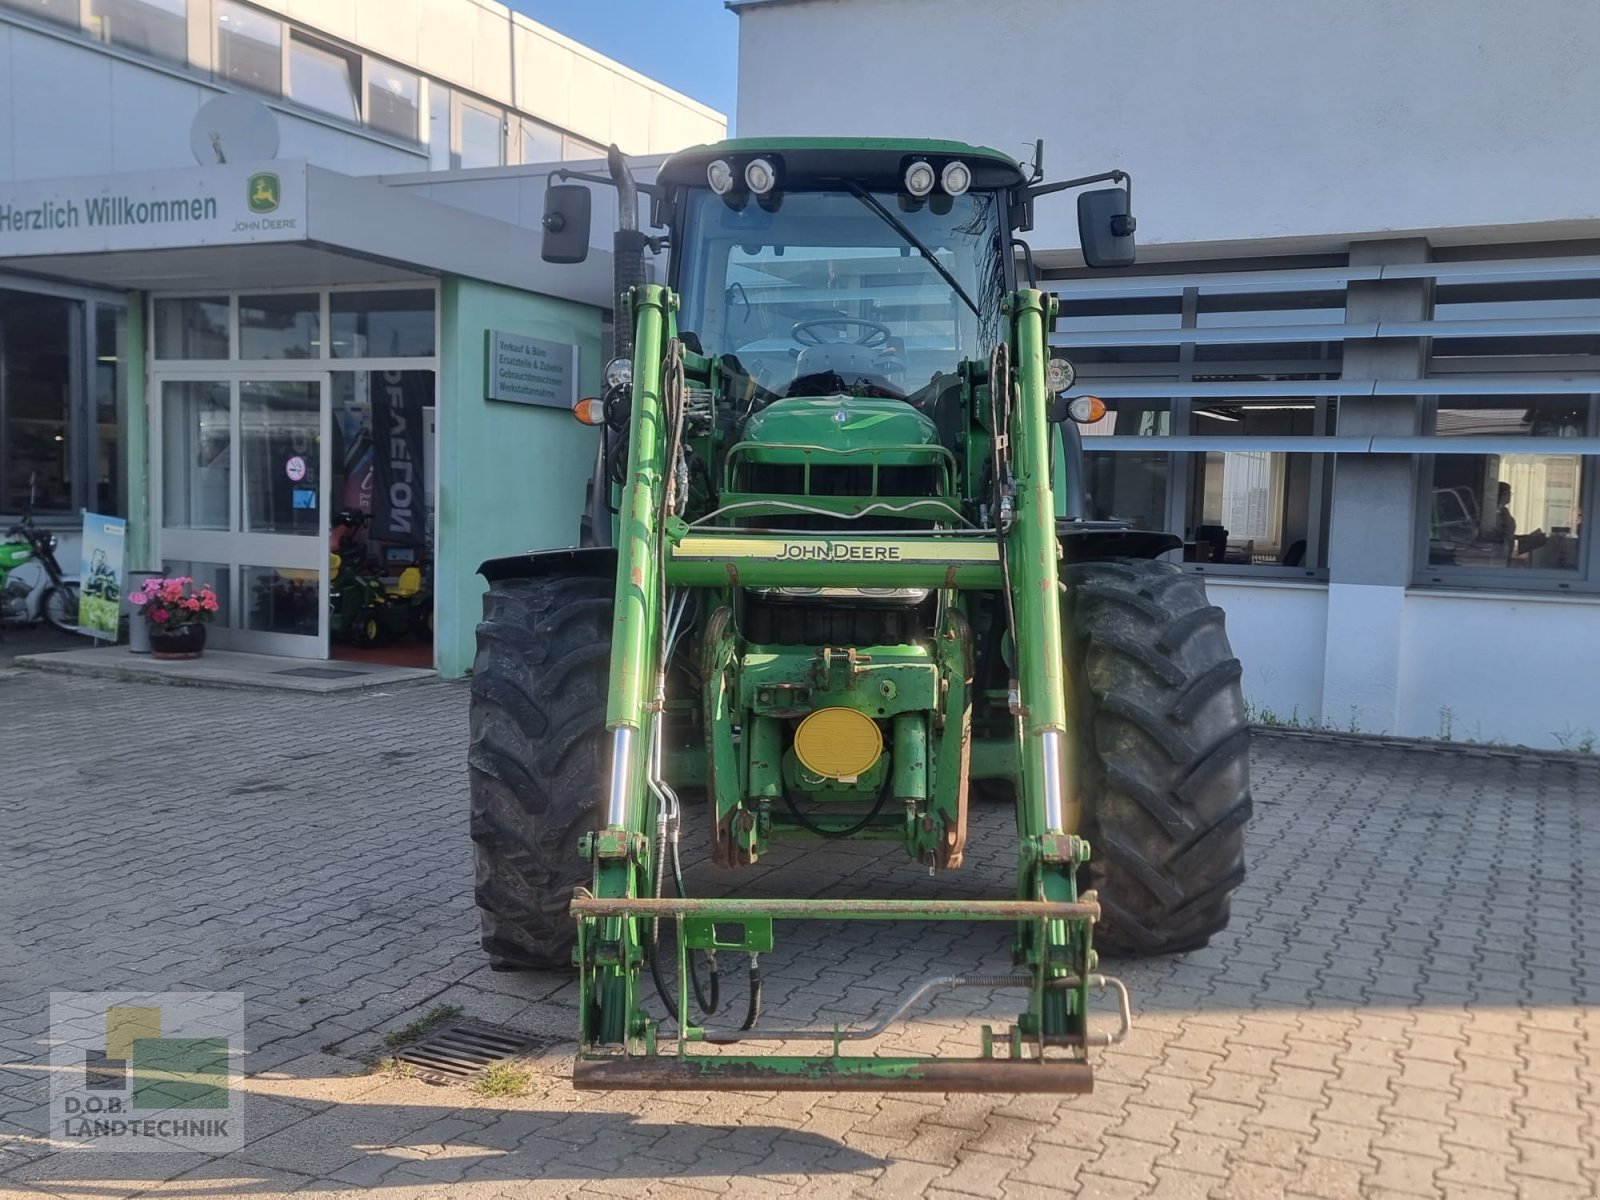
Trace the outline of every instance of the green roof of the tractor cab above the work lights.
[[822, 186], [853, 179], [862, 187], [899, 187], [906, 166], [928, 160], [938, 171], [960, 158], [973, 171], [973, 187], [1016, 187], [1027, 182], [1016, 160], [987, 146], [933, 138], [730, 138], [691, 146], [667, 158], [656, 182], [706, 186], [706, 168], [726, 158], [738, 174], [750, 158], [771, 158], [786, 186]]

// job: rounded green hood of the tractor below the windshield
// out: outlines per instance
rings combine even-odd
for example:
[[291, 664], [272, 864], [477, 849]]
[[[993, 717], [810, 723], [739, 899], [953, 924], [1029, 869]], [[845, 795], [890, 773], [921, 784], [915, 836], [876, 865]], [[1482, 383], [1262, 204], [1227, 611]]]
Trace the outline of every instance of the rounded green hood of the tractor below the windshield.
[[774, 400], [749, 419], [741, 440], [746, 458], [757, 462], [802, 462], [816, 461], [830, 450], [845, 456], [904, 446], [904, 456], [893, 450], [878, 454], [885, 466], [904, 466], [925, 462], [923, 448], [938, 446], [939, 432], [904, 400], [819, 395]]

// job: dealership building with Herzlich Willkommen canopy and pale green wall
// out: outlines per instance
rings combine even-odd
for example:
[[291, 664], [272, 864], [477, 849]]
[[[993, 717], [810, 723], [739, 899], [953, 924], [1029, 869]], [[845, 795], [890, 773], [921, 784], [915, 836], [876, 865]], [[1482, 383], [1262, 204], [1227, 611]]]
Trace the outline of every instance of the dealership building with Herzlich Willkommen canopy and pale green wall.
[[74, 571], [125, 517], [211, 645], [317, 659], [363, 514], [427, 579], [389, 650], [462, 674], [478, 562], [571, 542], [594, 461], [614, 210], [544, 264], [550, 165], [725, 128], [482, 0], [0, 0], [0, 526]]

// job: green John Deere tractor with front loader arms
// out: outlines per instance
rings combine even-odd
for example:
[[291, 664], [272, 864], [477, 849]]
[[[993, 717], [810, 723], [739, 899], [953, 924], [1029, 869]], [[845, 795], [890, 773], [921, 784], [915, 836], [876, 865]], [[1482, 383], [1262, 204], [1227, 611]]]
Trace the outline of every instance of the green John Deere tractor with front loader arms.
[[[482, 566], [491, 965], [576, 965], [581, 1088], [1086, 1091], [1130, 1021], [1091, 941], [1203, 946], [1250, 814], [1222, 613], [1160, 560], [1176, 536], [1088, 518], [1077, 422], [1104, 408], [1051, 354], [1054, 296], [1016, 278], [1035, 200], [1094, 184], [1085, 259], [1130, 264], [1126, 174], [1042, 182], [990, 149], [880, 139], [701, 146], [651, 184], [614, 147], [610, 166], [560, 173], [582, 182], [552, 182], [544, 216], [546, 259], [581, 261], [586, 184], [619, 190], [621, 354], [574, 410], [602, 430], [582, 544]], [[640, 194], [662, 234], [637, 227]], [[646, 248], [670, 248], [664, 286]], [[944, 872], [978, 795], [1014, 803], [1014, 898], [685, 894], [683, 819], [728, 869], [875, 838]], [[1002, 922], [1013, 962], [866, 1029], [770, 1027], [758, 960], [792, 918]], [[742, 1022], [707, 1016], [718, 954], [749, 955]], [[970, 1056], [845, 1045], [965, 984], [1022, 1008]], [[1120, 1029], [1090, 1027], [1102, 987]]]

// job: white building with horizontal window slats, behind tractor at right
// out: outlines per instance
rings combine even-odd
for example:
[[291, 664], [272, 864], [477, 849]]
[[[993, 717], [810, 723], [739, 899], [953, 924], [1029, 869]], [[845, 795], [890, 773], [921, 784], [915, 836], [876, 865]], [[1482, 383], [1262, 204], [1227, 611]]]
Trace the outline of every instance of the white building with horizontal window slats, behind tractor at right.
[[1027, 238], [1096, 515], [1184, 536], [1259, 720], [1594, 749], [1600, 8], [730, 6], [741, 136], [1131, 173], [1134, 269]]

